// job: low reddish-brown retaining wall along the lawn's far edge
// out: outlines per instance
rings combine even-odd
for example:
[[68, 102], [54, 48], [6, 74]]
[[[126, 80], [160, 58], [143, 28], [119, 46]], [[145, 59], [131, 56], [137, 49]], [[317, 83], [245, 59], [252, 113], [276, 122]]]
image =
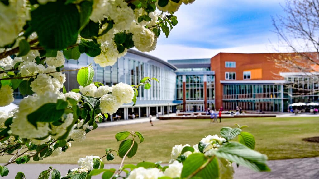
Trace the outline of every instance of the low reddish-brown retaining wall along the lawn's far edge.
[[[222, 118], [266, 118], [266, 117], [276, 117], [276, 115], [234, 115], [234, 116], [222, 116]], [[160, 120], [168, 120], [168, 119], [210, 119], [211, 116], [209, 115], [201, 115], [201, 116], [160, 116], [158, 119]]]

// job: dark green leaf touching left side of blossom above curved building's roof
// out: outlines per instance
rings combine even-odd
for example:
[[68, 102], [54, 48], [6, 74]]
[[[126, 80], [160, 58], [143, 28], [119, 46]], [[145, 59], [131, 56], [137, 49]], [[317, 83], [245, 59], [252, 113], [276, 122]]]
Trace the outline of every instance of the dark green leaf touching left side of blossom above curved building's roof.
[[90, 57], [98, 56], [101, 53], [100, 44], [94, 41], [81, 39], [78, 47], [80, 53], [85, 53]]

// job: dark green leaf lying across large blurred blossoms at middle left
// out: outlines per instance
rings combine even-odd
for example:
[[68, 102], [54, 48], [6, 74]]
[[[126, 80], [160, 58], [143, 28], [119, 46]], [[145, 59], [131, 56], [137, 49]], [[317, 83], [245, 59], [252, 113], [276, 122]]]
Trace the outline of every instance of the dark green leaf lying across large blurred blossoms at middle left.
[[[63, 109], [57, 109], [56, 103], [47, 103], [27, 116], [28, 121], [37, 127], [37, 122], [54, 122], [61, 118]], [[63, 107], [63, 106], [60, 106]], [[59, 108], [60, 108], [59, 107]]]

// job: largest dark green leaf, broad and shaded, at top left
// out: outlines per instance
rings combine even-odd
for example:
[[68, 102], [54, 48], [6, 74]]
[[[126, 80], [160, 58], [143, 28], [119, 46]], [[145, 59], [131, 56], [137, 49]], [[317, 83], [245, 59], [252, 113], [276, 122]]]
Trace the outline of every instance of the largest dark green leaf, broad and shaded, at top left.
[[48, 2], [31, 11], [31, 26], [45, 49], [63, 50], [76, 43], [80, 14], [76, 4]]

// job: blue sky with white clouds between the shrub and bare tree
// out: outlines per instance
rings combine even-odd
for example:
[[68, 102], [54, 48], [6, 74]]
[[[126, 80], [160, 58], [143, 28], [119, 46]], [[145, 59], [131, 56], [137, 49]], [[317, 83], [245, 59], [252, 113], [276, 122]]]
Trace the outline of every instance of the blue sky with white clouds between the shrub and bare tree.
[[[176, 12], [178, 24], [149, 54], [163, 60], [211, 58], [219, 52], [274, 52], [278, 38], [271, 16], [284, 0], [196, 0]], [[281, 49], [279, 49], [281, 50]]]

